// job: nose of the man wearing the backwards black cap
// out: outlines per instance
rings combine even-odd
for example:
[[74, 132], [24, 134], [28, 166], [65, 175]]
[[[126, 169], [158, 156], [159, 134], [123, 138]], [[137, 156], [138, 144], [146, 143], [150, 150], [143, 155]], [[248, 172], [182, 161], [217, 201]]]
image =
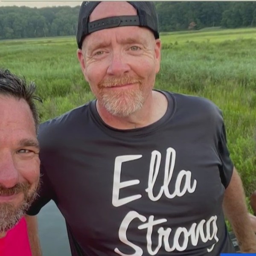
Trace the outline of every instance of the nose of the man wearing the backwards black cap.
[[125, 61], [125, 57], [121, 52], [113, 52], [111, 55], [111, 61], [108, 66], [107, 74], [116, 77], [122, 76], [130, 71], [130, 66]]

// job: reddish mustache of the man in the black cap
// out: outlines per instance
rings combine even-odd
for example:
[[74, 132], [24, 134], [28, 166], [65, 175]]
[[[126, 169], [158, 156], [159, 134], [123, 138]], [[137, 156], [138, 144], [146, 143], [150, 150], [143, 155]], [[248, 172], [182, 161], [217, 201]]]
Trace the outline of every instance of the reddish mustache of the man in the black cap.
[[123, 76], [123, 77], [110, 77], [99, 83], [100, 88], [113, 87], [124, 84], [142, 84], [142, 79], [140, 77], [134, 76]]

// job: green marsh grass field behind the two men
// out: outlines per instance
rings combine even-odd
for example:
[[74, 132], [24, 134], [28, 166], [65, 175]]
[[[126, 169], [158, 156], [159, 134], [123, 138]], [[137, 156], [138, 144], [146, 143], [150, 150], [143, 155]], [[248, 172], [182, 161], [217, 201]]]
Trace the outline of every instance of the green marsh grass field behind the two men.
[[[156, 87], [211, 99], [224, 113], [228, 145], [247, 196], [256, 189], [256, 29], [163, 33]], [[0, 41], [0, 67], [35, 81], [44, 121], [93, 99], [75, 37]]]

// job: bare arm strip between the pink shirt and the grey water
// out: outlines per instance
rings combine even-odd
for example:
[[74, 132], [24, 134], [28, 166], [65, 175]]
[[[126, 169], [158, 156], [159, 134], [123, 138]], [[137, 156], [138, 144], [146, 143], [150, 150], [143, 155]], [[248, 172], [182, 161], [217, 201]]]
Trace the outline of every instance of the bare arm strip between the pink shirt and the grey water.
[[32, 256], [42, 256], [36, 216], [25, 215]]

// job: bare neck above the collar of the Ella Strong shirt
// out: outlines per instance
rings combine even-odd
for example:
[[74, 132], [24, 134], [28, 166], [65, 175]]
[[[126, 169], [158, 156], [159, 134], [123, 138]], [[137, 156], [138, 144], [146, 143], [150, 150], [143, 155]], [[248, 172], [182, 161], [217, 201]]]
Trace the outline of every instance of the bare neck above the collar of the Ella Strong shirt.
[[113, 116], [100, 103], [96, 102], [97, 111], [102, 120], [109, 126], [127, 130], [142, 128], [157, 122], [166, 113], [168, 102], [166, 96], [157, 91], [152, 91], [145, 101], [143, 108], [130, 116]]

